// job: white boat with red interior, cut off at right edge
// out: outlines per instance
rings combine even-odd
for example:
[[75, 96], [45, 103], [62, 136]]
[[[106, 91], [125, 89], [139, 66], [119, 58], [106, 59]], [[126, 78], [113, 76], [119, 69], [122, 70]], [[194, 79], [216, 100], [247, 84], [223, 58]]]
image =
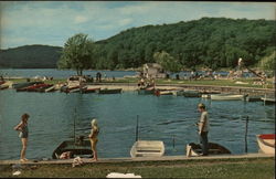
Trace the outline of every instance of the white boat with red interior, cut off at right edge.
[[275, 155], [275, 134], [256, 135], [259, 150], [264, 154]]

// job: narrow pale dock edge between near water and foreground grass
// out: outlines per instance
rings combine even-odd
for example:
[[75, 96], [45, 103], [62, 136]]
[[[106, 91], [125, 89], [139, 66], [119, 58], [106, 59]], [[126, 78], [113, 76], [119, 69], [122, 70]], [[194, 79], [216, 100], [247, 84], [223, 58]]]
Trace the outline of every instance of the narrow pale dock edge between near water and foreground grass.
[[[187, 156], [162, 156], [162, 157], [137, 157], [137, 158], [99, 158], [98, 161], [92, 161], [89, 158], [82, 158], [85, 164], [123, 164], [123, 162], [158, 162], [158, 161], [187, 161], [187, 160], [227, 160], [227, 159], [256, 159], [256, 158], [275, 158], [275, 155], [266, 155], [262, 152], [244, 154], [244, 155], [210, 155], [201, 157], [187, 157]], [[50, 159], [50, 160], [35, 160], [30, 159], [25, 162], [20, 160], [0, 160], [1, 165], [71, 165], [73, 159]]]

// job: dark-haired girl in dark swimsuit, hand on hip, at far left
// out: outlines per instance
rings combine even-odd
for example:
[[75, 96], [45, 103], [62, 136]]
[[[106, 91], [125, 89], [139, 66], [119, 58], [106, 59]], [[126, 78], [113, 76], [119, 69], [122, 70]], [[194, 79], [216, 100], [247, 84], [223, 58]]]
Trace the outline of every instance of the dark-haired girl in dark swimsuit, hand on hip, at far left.
[[20, 152], [20, 161], [24, 162], [28, 161], [25, 158], [25, 150], [26, 150], [26, 144], [28, 144], [28, 137], [29, 137], [29, 129], [28, 129], [28, 119], [29, 119], [29, 114], [23, 114], [21, 116], [21, 122], [13, 128], [14, 130], [19, 130], [19, 137], [21, 138], [22, 141], [22, 149]]

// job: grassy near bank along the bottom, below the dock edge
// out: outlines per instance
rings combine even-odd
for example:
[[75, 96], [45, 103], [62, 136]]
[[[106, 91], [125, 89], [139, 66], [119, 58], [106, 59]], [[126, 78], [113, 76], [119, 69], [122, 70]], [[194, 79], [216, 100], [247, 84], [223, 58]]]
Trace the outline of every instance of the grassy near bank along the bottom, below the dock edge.
[[[142, 178], [250, 178], [272, 179], [274, 158], [140, 161], [115, 164], [25, 166], [19, 177], [106, 178], [109, 172], [134, 172]], [[0, 177], [12, 177], [11, 166], [0, 166]]]

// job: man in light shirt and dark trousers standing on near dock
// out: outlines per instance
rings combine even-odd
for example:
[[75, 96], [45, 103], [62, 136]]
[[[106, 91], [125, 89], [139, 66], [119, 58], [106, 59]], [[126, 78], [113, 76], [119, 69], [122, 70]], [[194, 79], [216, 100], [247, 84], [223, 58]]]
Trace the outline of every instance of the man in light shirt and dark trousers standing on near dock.
[[200, 103], [198, 105], [198, 110], [201, 113], [200, 120], [197, 125], [199, 127], [200, 143], [202, 145], [202, 156], [208, 156], [209, 116], [208, 116], [206, 107], [203, 103]]

